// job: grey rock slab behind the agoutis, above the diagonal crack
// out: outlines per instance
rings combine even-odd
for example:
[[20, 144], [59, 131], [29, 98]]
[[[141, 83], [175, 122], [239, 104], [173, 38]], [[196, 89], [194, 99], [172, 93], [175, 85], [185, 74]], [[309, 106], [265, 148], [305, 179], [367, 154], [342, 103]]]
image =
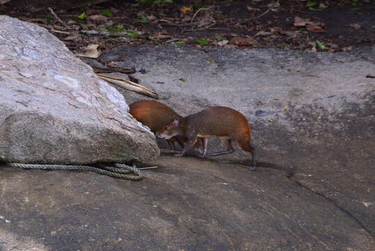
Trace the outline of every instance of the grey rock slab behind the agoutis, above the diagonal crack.
[[[134, 77], [179, 114], [208, 105], [238, 109], [253, 127], [259, 169], [285, 170], [374, 236], [375, 79], [366, 77], [375, 75], [374, 46], [314, 54], [145, 45], [114, 48], [101, 59], [146, 70]], [[122, 93], [129, 102], [145, 99]], [[209, 140], [209, 151], [219, 149]], [[212, 159], [248, 165], [249, 158], [237, 151]]]

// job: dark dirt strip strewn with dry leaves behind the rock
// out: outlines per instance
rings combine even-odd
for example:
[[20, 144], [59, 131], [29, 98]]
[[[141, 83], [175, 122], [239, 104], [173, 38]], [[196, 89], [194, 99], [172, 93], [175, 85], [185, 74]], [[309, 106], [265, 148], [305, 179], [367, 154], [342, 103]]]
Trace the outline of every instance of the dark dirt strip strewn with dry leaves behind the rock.
[[[29, 12], [12, 5], [0, 7], [1, 15], [45, 26], [74, 52], [90, 44], [106, 50], [165, 43], [192, 44], [203, 50], [219, 46], [338, 52], [375, 43], [372, 0], [108, 1], [55, 12], [68, 29], [47, 8]], [[107, 31], [108, 36], [82, 31]]]

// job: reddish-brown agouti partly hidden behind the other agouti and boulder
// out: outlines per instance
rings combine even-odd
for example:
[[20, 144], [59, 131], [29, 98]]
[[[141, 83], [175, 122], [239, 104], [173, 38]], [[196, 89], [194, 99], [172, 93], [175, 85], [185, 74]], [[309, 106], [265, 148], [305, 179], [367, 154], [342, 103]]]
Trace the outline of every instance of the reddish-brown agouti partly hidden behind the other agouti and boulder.
[[[182, 116], [173, 111], [168, 105], [154, 100], [139, 100], [129, 105], [129, 113], [134, 116], [134, 119], [148, 126], [152, 132], [157, 132], [163, 126], [173, 122], [174, 118], [181, 119]], [[170, 149], [175, 151], [175, 142], [181, 147], [187, 141], [186, 137], [177, 136], [167, 139]], [[194, 148], [201, 152], [202, 146], [200, 143], [196, 144]]]

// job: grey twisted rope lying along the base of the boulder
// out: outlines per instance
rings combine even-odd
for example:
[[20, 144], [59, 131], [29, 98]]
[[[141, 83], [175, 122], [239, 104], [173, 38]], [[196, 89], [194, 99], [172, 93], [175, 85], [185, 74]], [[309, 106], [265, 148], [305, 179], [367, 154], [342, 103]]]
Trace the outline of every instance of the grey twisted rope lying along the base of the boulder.
[[7, 165], [10, 167], [21, 167], [24, 169], [48, 169], [48, 170], [73, 170], [73, 171], [90, 171], [96, 172], [98, 174], [104, 174], [113, 178], [122, 178], [130, 181], [141, 181], [143, 176], [139, 172], [136, 165], [133, 167], [125, 164], [115, 164], [115, 167], [91, 167], [86, 165], [39, 165], [39, 164], [22, 164], [22, 163], [13, 163], [8, 162]]

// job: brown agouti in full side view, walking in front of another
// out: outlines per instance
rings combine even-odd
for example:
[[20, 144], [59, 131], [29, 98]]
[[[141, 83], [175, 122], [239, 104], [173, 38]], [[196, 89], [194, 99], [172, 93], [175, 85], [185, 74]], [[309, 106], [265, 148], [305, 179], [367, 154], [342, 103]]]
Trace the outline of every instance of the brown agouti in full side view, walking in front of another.
[[156, 132], [157, 137], [170, 139], [177, 135], [187, 137], [184, 149], [177, 156], [182, 156], [197, 141], [203, 143], [202, 158], [207, 153], [208, 137], [218, 137], [227, 148], [226, 151], [212, 153], [213, 156], [234, 152], [232, 142], [252, 156], [251, 170], [255, 170], [255, 149], [250, 144], [250, 126], [240, 112], [228, 107], [208, 107], [196, 114], [186, 117], [175, 117], [171, 123]]

